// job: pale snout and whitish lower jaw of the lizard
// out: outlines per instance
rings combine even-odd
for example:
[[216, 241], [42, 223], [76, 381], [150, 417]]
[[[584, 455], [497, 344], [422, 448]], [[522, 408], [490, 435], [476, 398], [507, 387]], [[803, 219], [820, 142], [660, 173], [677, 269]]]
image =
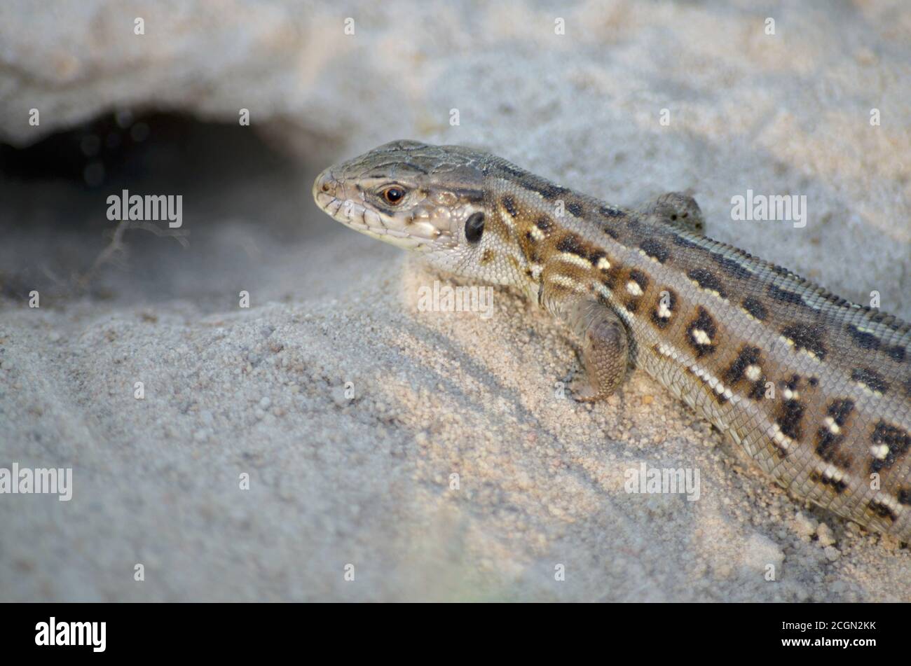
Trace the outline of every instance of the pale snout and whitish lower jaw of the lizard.
[[[440, 230], [429, 222], [413, 221], [411, 214], [381, 215], [363, 201], [346, 197], [345, 187], [327, 169], [313, 183], [316, 205], [345, 227], [394, 246], [413, 250], [434, 250], [443, 241]], [[407, 227], [407, 230], [406, 228]]]

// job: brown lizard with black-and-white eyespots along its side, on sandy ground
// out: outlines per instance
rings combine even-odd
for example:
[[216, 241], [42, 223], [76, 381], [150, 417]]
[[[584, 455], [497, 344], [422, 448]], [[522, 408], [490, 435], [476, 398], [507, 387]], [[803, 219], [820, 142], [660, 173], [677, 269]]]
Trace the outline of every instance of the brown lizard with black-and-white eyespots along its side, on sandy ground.
[[911, 542], [911, 325], [704, 236], [689, 194], [618, 207], [411, 140], [327, 168], [312, 194], [344, 226], [564, 322], [576, 399], [642, 368], [794, 497]]

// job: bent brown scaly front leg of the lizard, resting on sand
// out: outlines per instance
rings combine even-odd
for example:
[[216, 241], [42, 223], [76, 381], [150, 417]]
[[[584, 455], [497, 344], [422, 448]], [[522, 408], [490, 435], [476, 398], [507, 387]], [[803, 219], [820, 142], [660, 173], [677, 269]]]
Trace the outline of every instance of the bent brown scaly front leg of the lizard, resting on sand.
[[613, 310], [588, 298], [570, 308], [569, 324], [581, 340], [583, 365], [583, 374], [569, 389], [581, 401], [605, 399], [626, 377], [626, 328]]

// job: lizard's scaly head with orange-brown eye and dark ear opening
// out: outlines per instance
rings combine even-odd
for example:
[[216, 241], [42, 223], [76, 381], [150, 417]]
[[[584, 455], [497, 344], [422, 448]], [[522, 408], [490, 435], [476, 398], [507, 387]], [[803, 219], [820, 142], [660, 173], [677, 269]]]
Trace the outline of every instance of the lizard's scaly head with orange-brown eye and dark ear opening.
[[485, 234], [489, 158], [462, 146], [393, 141], [323, 171], [313, 198], [346, 227], [421, 252], [436, 267], [489, 280], [476, 268], [496, 241]]

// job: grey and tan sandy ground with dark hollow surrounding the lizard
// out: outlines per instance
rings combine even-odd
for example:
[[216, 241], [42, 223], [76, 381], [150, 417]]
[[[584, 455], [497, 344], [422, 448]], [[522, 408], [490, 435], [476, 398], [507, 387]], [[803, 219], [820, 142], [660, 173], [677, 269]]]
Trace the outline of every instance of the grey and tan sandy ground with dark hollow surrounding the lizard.
[[[624, 503], [630, 450], [730, 472], [666, 397], [654, 433], [548, 403], [572, 349], [517, 304], [496, 335], [415, 318], [421, 269], [311, 197], [398, 138], [620, 205], [692, 188], [709, 236], [911, 318], [907, 3], [5, 0], [0, 45], [0, 465], [78, 484], [0, 502], [0, 599], [911, 598], [860, 540], [821, 574], [762, 481]], [[118, 234], [124, 189], [181, 196], [182, 226]], [[806, 196], [807, 226], [732, 221], [747, 189]], [[781, 586], [753, 576], [785, 552]]]

